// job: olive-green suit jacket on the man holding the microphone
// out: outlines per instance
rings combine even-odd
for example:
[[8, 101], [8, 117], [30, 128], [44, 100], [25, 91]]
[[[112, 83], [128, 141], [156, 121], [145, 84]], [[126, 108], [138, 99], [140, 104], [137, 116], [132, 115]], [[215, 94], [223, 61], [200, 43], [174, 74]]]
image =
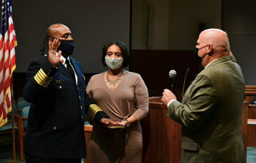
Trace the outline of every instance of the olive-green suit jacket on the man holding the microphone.
[[233, 56], [222, 56], [196, 76], [182, 104], [167, 117], [182, 124], [181, 163], [245, 163], [241, 114], [245, 81]]

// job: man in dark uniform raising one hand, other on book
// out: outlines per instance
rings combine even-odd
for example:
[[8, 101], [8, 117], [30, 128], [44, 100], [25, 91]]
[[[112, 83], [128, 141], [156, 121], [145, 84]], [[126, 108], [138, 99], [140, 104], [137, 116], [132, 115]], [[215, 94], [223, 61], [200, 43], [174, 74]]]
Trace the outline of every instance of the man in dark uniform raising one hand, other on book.
[[86, 158], [84, 115], [113, 123], [92, 104], [86, 93], [75, 47], [67, 26], [53, 24], [46, 31], [48, 55], [35, 58], [27, 70], [23, 97], [32, 103], [26, 130], [26, 163], [81, 163]]

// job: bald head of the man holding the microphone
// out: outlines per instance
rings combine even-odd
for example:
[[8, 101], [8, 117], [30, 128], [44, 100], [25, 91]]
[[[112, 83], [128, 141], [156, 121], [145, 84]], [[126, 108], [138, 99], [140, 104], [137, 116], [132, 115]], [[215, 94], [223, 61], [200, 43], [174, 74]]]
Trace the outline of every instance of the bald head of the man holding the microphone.
[[229, 41], [226, 33], [218, 29], [208, 29], [200, 33], [201, 41], [205, 44], [212, 44], [214, 52], [220, 56], [227, 55]]

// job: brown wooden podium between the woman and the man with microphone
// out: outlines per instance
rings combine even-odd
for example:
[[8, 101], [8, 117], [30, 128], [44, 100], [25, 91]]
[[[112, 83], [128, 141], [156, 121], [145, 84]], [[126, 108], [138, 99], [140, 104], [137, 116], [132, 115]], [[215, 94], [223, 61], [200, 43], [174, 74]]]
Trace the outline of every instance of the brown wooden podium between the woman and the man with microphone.
[[143, 163], [181, 162], [181, 124], [166, 117], [162, 97], [149, 97], [149, 112], [140, 120], [143, 134]]

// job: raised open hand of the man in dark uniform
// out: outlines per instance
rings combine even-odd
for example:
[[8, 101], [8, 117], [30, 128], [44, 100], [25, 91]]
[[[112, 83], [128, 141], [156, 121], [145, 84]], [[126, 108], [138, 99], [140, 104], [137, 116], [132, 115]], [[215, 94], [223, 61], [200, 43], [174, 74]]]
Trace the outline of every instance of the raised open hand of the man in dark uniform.
[[53, 67], [57, 67], [60, 62], [61, 51], [57, 52], [59, 47], [60, 43], [58, 39], [54, 39], [52, 44], [49, 41], [48, 59]]

